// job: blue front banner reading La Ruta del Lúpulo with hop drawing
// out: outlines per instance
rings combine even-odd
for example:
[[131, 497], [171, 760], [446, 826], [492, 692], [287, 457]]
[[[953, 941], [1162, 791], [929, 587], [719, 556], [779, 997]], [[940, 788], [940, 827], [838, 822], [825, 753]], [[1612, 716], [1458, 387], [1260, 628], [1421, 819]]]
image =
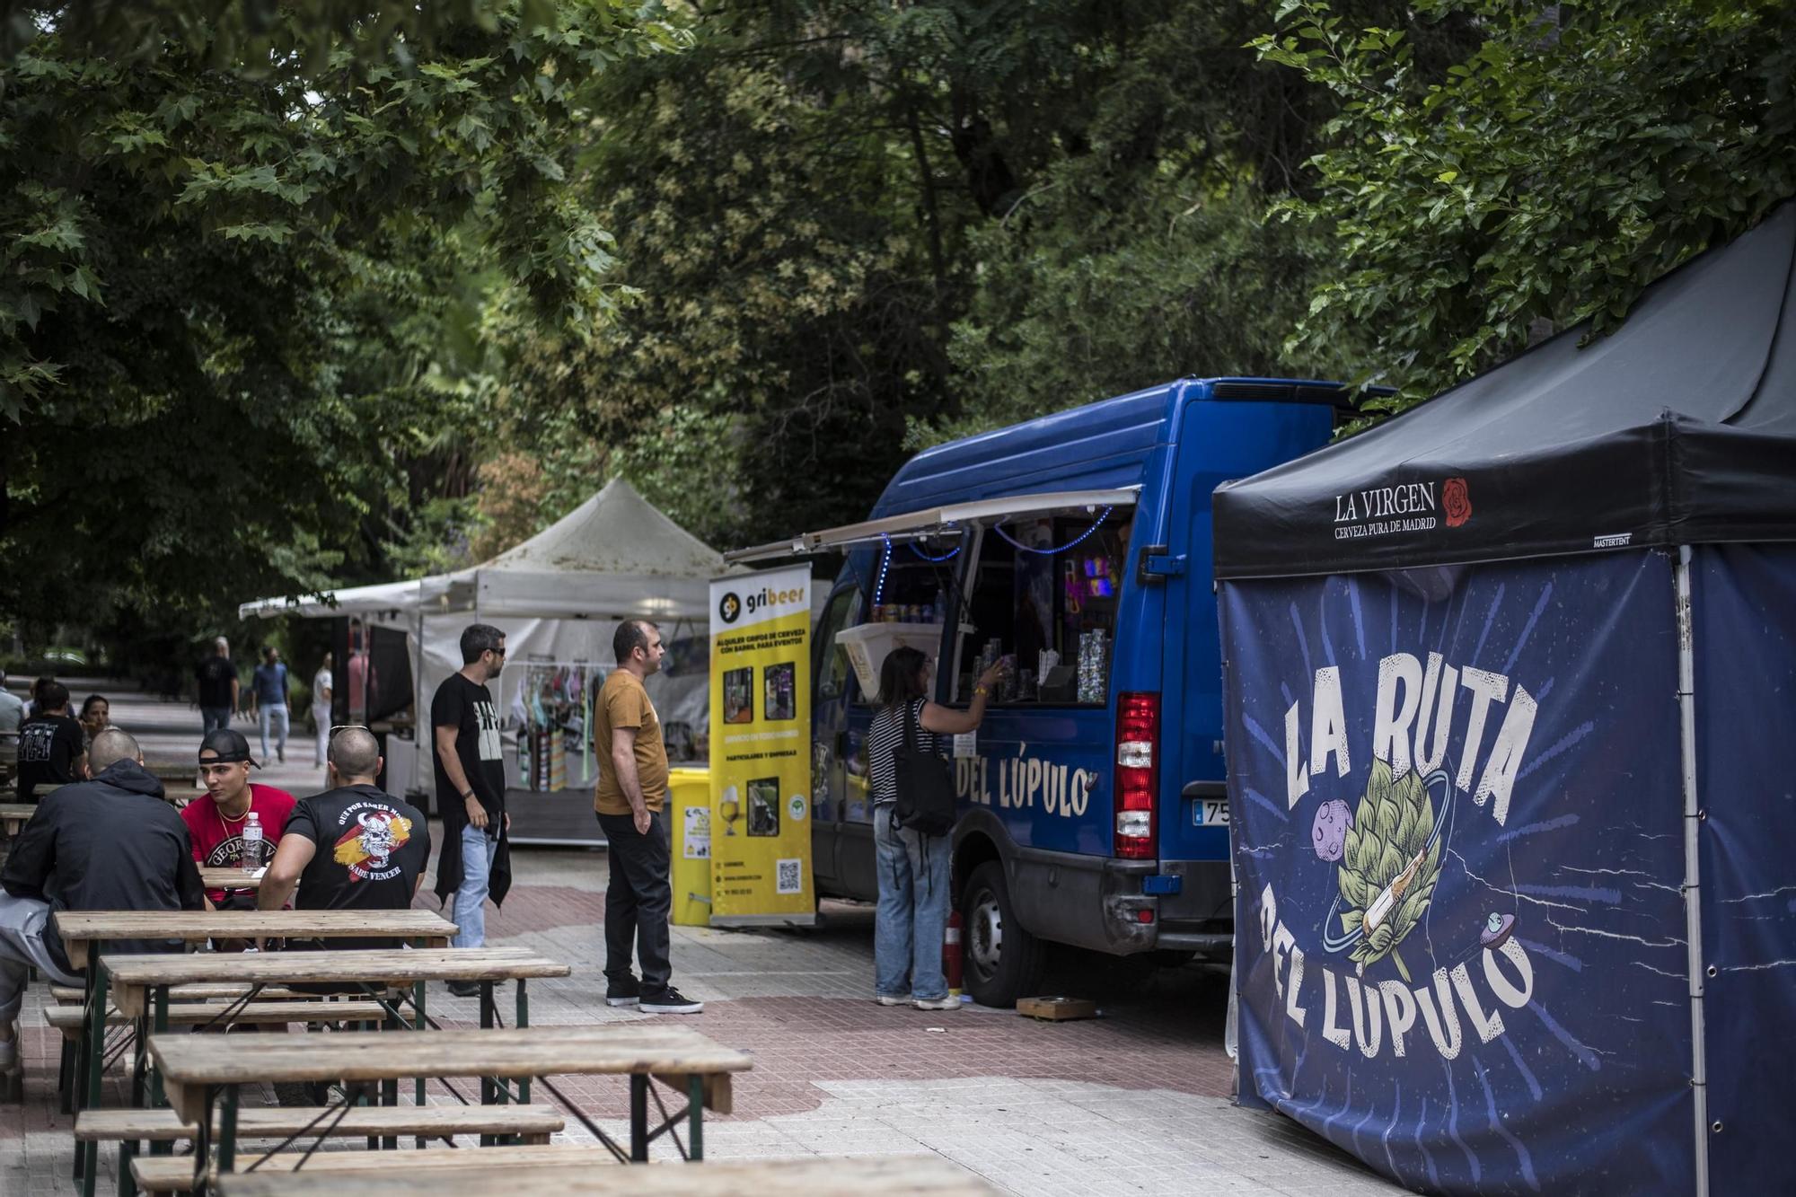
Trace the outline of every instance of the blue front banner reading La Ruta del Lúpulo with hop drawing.
[[1672, 564], [1221, 586], [1245, 1104], [1419, 1192], [1694, 1188]]

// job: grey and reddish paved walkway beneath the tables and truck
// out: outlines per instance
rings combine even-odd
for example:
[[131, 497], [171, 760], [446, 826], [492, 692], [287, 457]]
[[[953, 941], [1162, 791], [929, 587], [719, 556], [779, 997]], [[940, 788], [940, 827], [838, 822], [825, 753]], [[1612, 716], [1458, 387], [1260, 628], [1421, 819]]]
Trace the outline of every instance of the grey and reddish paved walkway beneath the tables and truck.
[[[156, 755], [178, 755], [181, 744], [192, 751], [198, 742], [198, 712], [136, 701], [115, 701], [113, 712], [122, 726], [144, 732]], [[189, 714], [192, 732], [181, 732]], [[259, 780], [314, 793], [311, 746], [289, 749], [293, 764]], [[605, 854], [519, 848], [514, 870], [505, 909], [489, 915], [490, 942], [575, 965], [566, 981], [532, 985], [532, 1023], [648, 1017], [603, 1003]], [[435, 908], [435, 899], [420, 904]], [[1221, 1051], [1227, 990], [1216, 971], [1187, 967], [1124, 985], [1105, 980], [1101, 958], [1069, 962], [1049, 987], [1092, 992], [1103, 1005], [1103, 1017], [1078, 1023], [977, 1006], [884, 1008], [871, 1001], [871, 911], [824, 904], [823, 913], [812, 931], [675, 927], [674, 980], [708, 1003], [684, 1023], [754, 1055], [754, 1071], [736, 1082], [736, 1113], [706, 1123], [709, 1157], [936, 1152], [1008, 1192], [1079, 1197], [1401, 1192], [1295, 1123], [1230, 1104]], [[476, 1017], [472, 999], [440, 989], [431, 1003], [445, 1021]], [[0, 1107], [0, 1193], [75, 1192], [70, 1120], [56, 1113], [56, 1044], [38, 1010], [32, 998], [22, 1019], [25, 1105]], [[598, 1123], [609, 1134], [627, 1132], [621, 1080], [555, 1078], [555, 1086], [605, 1114]], [[108, 1102], [120, 1098], [122, 1073], [115, 1073]], [[438, 1091], [436, 1100], [454, 1098]], [[559, 1138], [591, 1141], [573, 1125]], [[654, 1147], [656, 1157], [674, 1154], [672, 1143]], [[101, 1156], [102, 1192], [115, 1184], [113, 1157]]]

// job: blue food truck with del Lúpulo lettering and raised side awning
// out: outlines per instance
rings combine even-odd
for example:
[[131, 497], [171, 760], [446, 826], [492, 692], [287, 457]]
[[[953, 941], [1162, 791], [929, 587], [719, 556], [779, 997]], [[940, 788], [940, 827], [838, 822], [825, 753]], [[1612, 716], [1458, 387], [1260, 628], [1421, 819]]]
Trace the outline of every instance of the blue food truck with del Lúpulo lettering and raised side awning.
[[864, 737], [885, 654], [936, 658], [955, 706], [1009, 658], [954, 740], [968, 992], [1029, 996], [1047, 944], [1225, 958], [1211, 491], [1325, 444], [1343, 403], [1336, 383], [1180, 379], [927, 449], [867, 521], [726, 554], [844, 557], [812, 645], [817, 893], [878, 891]]

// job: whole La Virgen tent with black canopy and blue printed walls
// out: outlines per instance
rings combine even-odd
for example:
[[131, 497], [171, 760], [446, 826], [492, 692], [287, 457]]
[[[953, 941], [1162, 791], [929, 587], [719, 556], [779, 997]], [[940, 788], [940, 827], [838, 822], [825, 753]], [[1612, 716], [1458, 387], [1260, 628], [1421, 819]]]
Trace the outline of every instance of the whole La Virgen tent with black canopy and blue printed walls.
[[1782, 1175], [1792, 268], [1218, 489], [1243, 1104], [1415, 1192]]

